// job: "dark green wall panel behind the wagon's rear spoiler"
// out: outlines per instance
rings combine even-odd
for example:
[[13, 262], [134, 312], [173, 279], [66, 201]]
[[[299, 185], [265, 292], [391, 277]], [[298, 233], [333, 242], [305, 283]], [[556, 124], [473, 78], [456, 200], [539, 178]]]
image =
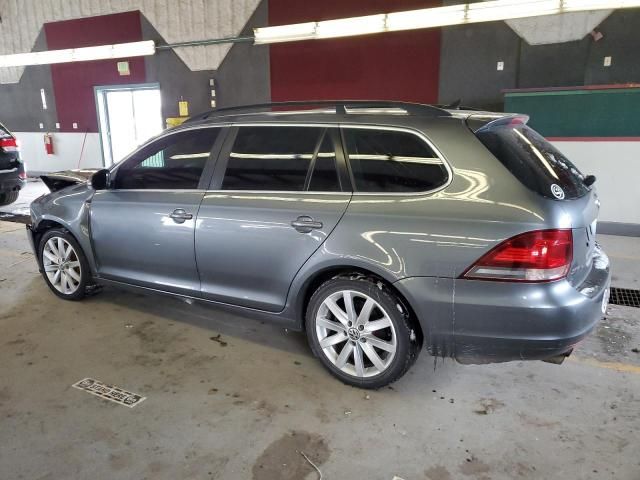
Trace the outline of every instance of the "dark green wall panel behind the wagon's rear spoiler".
[[640, 137], [640, 88], [507, 92], [505, 112], [545, 137]]

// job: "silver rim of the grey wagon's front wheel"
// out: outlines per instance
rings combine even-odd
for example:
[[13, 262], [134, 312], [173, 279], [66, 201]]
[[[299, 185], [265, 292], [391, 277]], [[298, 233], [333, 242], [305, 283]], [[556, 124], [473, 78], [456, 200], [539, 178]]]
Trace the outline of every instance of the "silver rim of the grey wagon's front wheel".
[[42, 249], [42, 265], [53, 288], [64, 295], [78, 290], [82, 280], [80, 259], [73, 246], [62, 237], [51, 237]]

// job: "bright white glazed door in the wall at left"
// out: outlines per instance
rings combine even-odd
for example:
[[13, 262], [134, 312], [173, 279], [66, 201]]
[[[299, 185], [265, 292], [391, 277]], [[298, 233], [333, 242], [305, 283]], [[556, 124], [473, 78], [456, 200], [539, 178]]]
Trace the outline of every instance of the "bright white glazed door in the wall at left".
[[162, 131], [160, 88], [96, 88], [100, 139], [105, 166], [122, 160]]

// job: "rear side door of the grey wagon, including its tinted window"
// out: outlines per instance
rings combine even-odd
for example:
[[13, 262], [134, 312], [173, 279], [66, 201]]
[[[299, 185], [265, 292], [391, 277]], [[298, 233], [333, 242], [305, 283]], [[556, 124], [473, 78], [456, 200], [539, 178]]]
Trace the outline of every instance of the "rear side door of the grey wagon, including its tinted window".
[[231, 129], [198, 213], [202, 296], [282, 310], [296, 272], [349, 204], [346, 175], [337, 128]]

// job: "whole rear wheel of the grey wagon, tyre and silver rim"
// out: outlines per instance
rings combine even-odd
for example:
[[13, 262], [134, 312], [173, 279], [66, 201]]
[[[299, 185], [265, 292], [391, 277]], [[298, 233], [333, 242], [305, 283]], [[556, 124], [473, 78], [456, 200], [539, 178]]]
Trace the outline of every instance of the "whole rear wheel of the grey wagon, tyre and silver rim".
[[419, 340], [406, 308], [382, 282], [337, 277], [318, 288], [307, 309], [313, 352], [349, 385], [380, 388], [415, 362]]

